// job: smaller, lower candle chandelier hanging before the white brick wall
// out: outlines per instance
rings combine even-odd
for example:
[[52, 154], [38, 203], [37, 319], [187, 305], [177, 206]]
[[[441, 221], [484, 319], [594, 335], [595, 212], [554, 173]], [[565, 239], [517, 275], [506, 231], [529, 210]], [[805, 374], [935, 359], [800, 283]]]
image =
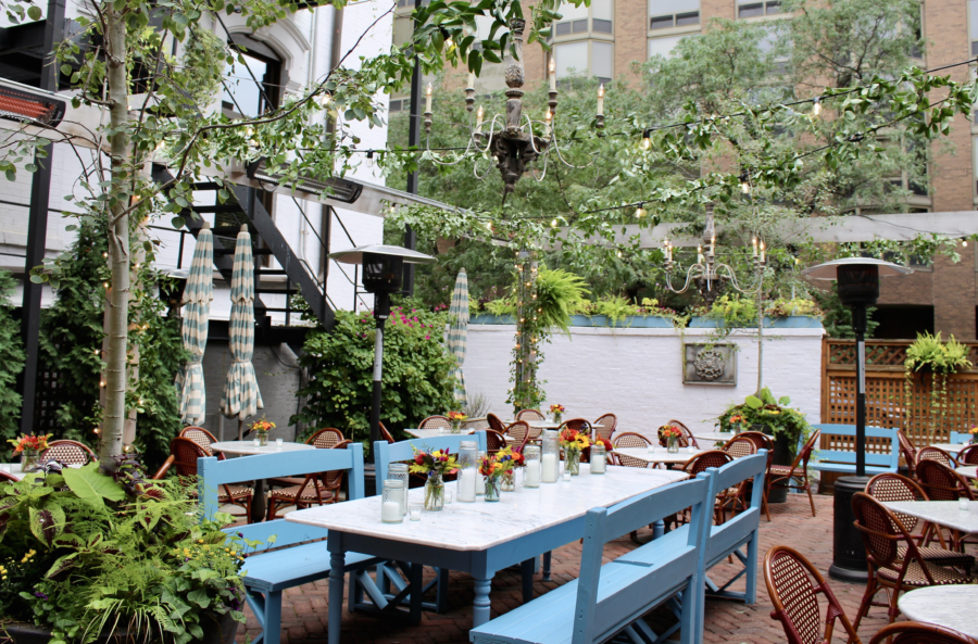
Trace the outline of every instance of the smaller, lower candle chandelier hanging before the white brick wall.
[[[685, 293], [690, 285], [695, 285], [707, 306], [712, 305], [728, 286], [748, 295], [758, 293], [764, 281], [764, 267], [767, 265], [767, 257], [763, 241], [760, 242], [760, 249], [756, 237], [752, 240], [752, 244], [754, 247], [752, 257], [754, 276], [751, 286], [744, 287], [737, 279], [737, 273], [730, 265], [717, 263], [716, 261], [716, 223], [713, 217], [713, 204], [707, 204], [703, 243], [697, 247], [697, 263], [686, 272], [686, 281], [681, 289], [673, 286], [673, 268], [675, 265], [673, 262], [673, 244], [669, 243], [668, 239], [665, 240], [666, 288], [674, 293]], [[703, 253], [704, 245], [706, 247], [705, 253]]]

